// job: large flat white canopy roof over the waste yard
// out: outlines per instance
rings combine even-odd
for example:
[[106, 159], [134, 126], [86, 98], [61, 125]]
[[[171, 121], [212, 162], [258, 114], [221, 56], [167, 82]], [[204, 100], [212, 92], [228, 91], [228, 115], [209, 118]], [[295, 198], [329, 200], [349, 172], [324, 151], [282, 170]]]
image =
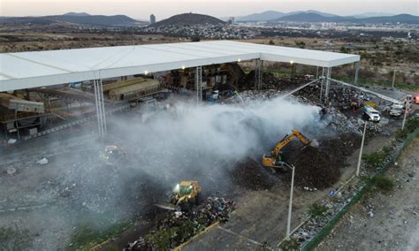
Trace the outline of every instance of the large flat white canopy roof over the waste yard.
[[181, 42], [0, 54], [0, 91], [261, 59], [332, 67], [358, 55], [248, 42]]

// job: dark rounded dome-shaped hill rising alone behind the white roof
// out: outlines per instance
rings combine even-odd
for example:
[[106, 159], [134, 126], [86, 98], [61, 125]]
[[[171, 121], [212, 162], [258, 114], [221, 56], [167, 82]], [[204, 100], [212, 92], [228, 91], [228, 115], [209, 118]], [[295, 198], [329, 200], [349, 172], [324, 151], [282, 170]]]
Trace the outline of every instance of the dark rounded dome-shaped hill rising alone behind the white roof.
[[216, 19], [209, 15], [184, 13], [171, 16], [169, 19], [164, 19], [156, 22], [150, 27], [168, 27], [168, 26], [194, 26], [194, 25], [221, 25], [225, 21]]

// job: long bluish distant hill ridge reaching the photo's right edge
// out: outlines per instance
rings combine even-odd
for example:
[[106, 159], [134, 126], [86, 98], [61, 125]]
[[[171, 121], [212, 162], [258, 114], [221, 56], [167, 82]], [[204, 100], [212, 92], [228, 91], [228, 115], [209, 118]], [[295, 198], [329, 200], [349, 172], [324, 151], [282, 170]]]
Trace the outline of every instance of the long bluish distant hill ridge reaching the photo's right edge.
[[373, 17], [373, 18], [363, 18], [357, 19], [355, 17], [341, 17], [341, 16], [332, 16], [325, 17], [317, 13], [298, 13], [290, 16], [281, 17], [278, 19], [270, 20], [269, 22], [347, 22], [347, 23], [370, 23], [370, 24], [384, 24], [384, 23], [405, 23], [405, 24], [419, 24], [419, 17], [400, 14], [391, 17]]

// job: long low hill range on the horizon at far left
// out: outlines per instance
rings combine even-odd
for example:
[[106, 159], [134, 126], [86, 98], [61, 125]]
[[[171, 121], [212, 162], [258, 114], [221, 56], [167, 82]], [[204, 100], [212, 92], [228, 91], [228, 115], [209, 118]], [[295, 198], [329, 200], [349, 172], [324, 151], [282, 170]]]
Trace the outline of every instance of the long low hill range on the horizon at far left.
[[[71, 12], [70, 12], [71, 13]], [[44, 16], [44, 17], [4, 17], [0, 19], [4, 23], [32, 23], [32, 24], [52, 24], [57, 22], [67, 22], [80, 25], [103, 26], [103, 27], [126, 27], [138, 24], [135, 19], [131, 19], [125, 15], [103, 16], [103, 15], [83, 15], [76, 13], [72, 15], [66, 13], [64, 15]], [[84, 13], [86, 14], [86, 13]]]

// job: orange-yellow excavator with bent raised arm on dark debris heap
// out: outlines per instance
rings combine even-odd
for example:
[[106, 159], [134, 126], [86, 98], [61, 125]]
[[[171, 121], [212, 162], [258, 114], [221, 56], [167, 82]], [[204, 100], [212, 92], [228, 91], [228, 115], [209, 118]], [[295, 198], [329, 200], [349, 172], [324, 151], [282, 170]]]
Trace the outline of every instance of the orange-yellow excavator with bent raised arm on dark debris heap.
[[263, 155], [262, 164], [265, 167], [283, 168], [284, 157], [282, 156], [281, 149], [284, 148], [293, 138], [299, 139], [304, 146], [311, 146], [318, 148], [318, 142], [316, 140], [309, 141], [309, 139], [297, 130], [291, 130], [290, 133], [275, 145], [275, 148], [270, 152], [269, 156]]

